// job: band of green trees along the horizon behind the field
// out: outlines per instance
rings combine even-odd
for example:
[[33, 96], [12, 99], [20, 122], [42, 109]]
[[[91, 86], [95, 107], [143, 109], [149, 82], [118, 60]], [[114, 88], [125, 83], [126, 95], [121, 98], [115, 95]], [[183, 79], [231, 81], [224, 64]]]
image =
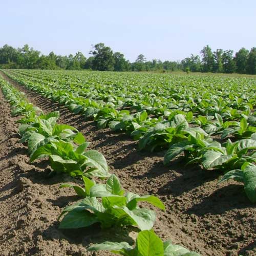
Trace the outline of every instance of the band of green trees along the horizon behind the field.
[[250, 51], [241, 48], [236, 54], [232, 50], [217, 49], [212, 52], [205, 46], [199, 55], [191, 54], [181, 61], [147, 61], [140, 54], [135, 62], [125, 59], [120, 52], [113, 52], [102, 42], [93, 46], [86, 58], [81, 52], [68, 56], [48, 55], [25, 45], [23, 48], [13, 48], [4, 45], [0, 48], [0, 68], [6, 69], [63, 69], [63, 70], [99, 70], [99, 71], [175, 71], [186, 72], [216, 72], [256, 74], [256, 48]]

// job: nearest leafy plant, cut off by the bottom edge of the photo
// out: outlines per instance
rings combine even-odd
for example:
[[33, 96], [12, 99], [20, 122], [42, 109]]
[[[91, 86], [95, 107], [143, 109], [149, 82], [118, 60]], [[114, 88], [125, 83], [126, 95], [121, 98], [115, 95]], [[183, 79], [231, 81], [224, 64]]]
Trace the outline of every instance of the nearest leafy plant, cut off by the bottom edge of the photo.
[[200, 256], [197, 252], [189, 251], [171, 241], [162, 242], [153, 230], [140, 231], [135, 247], [126, 242], [104, 242], [89, 247], [89, 250], [109, 250], [124, 256]]

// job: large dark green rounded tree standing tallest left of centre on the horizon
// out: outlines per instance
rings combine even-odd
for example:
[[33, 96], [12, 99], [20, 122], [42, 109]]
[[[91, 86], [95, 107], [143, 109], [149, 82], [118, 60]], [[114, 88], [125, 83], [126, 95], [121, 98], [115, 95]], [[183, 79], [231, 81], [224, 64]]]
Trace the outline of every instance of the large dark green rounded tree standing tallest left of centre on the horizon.
[[93, 55], [93, 69], [100, 71], [113, 71], [115, 58], [110, 47], [105, 46], [102, 42], [95, 45], [94, 50], [90, 51]]

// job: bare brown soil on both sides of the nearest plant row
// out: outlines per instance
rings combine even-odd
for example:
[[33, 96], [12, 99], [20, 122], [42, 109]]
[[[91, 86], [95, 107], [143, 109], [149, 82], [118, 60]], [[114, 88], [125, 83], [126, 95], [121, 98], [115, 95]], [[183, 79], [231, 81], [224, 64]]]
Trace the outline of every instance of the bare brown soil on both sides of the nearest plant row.
[[[156, 210], [154, 226], [163, 240], [170, 239], [207, 256], [256, 255], [256, 208], [241, 183], [217, 185], [218, 172], [185, 166], [183, 157], [164, 166], [164, 152], [140, 152], [129, 136], [98, 130], [95, 122], [72, 114], [1, 74], [43, 111], [59, 110], [59, 123], [81, 131], [91, 142], [90, 148], [105, 156], [110, 172], [119, 177], [126, 190], [153, 194], [164, 202], [166, 211]], [[26, 146], [18, 143], [15, 120], [0, 93], [0, 254], [112, 255], [88, 252], [86, 247], [104, 239], [131, 242], [127, 234], [134, 237], [134, 229], [58, 229], [61, 209], [78, 199], [72, 189], [58, 186], [74, 180], [63, 176], [47, 179], [46, 161], [29, 163]]]

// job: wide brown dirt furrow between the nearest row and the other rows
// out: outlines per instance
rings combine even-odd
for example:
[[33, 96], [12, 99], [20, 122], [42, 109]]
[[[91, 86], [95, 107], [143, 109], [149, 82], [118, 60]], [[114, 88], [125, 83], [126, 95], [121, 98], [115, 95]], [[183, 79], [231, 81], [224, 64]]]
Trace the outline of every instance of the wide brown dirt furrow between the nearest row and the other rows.
[[90, 147], [107, 159], [110, 171], [118, 175], [125, 189], [139, 194], [155, 194], [166, 205], [157, 211], [156, 232], [163, 239], [200, 252], [202, 255], [254, 255], [256, 209], [246, 198], [243, 187], [233, 181], [216, 186], [219, 174], [200, 166], [184, 167], [182, 158], [163, 165], [163, 152], [139, 152], [136, 142], [109, 129], [97, 130], [93, 121], [51, 102], [14, 83], [28, 99], [49, 112], [59, 110], [60, 122], [79, 129]]

